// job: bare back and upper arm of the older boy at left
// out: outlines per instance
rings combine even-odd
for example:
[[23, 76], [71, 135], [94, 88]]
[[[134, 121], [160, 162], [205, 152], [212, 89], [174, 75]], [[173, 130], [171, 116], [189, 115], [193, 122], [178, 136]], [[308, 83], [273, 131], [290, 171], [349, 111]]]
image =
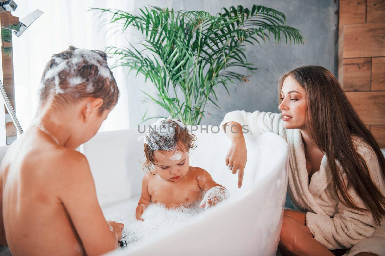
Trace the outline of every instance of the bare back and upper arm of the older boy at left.
[[[1, 237], [3, 242], [6, 235], [12, 254], [83, 255], [84, 248], [93, 246], [92, 237], [83, 234], [97, 236], [94, 223], [108, 228], [84, 155], [57, 145], [37, 128], [8, 149], [0, 182]], [[88, 249], [87, 254], [94, 252]]]

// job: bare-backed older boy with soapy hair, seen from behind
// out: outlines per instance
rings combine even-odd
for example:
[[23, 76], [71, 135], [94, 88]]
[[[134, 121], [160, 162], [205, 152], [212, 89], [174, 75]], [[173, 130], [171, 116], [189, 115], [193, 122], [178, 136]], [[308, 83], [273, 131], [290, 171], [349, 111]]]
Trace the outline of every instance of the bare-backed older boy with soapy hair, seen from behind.
[[32, 126], [0, 167], [0, 243], [17, 255], [100, 255], [117, 248], [123, 224], [105, 221], [85, 156], [117, 103], [105, 53], [70, 47], [52, 56]]

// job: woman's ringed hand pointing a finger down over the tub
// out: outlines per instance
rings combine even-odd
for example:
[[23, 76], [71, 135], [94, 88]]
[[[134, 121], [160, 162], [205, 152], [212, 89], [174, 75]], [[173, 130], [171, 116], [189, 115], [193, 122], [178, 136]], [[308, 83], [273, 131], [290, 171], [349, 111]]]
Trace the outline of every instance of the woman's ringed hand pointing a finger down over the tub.
[[243, 136], [232, 140], [226, 155], [226, 165], [233, 174], [238, 172], [238, 188], [242, 186], [243, 170], [247, 162], [246, 142]]

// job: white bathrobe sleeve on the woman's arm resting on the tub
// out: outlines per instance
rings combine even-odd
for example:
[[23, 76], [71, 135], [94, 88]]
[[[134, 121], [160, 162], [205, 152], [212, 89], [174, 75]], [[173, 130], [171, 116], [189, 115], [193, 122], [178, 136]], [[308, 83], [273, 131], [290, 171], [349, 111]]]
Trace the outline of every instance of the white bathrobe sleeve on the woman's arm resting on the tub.
[[286, 129], [283, 127], [283, 120], [281, 114], [272, 112], [246, 112], [244, 110], [236, 110], [228, 112], [221, 122], [221, 126], [227, 122], [237, 122], [246, 132], [253, 137], [258, 137], [263, 132], [274, 132], [286, 140]]

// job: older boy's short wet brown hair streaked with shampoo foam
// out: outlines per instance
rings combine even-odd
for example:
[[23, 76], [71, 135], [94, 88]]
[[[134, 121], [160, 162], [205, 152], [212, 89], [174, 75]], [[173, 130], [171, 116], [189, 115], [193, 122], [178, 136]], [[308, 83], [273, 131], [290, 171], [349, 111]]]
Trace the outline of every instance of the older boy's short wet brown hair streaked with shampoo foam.
[[40, 83], [40, 104], [44, 106], [52, 100], [65, 106], [92, 97], [103, 100], [99, 115], [112, 109], [117, 104], [119, 89], [106, 59], [103, 51], [74, 46], [53, 55]]

